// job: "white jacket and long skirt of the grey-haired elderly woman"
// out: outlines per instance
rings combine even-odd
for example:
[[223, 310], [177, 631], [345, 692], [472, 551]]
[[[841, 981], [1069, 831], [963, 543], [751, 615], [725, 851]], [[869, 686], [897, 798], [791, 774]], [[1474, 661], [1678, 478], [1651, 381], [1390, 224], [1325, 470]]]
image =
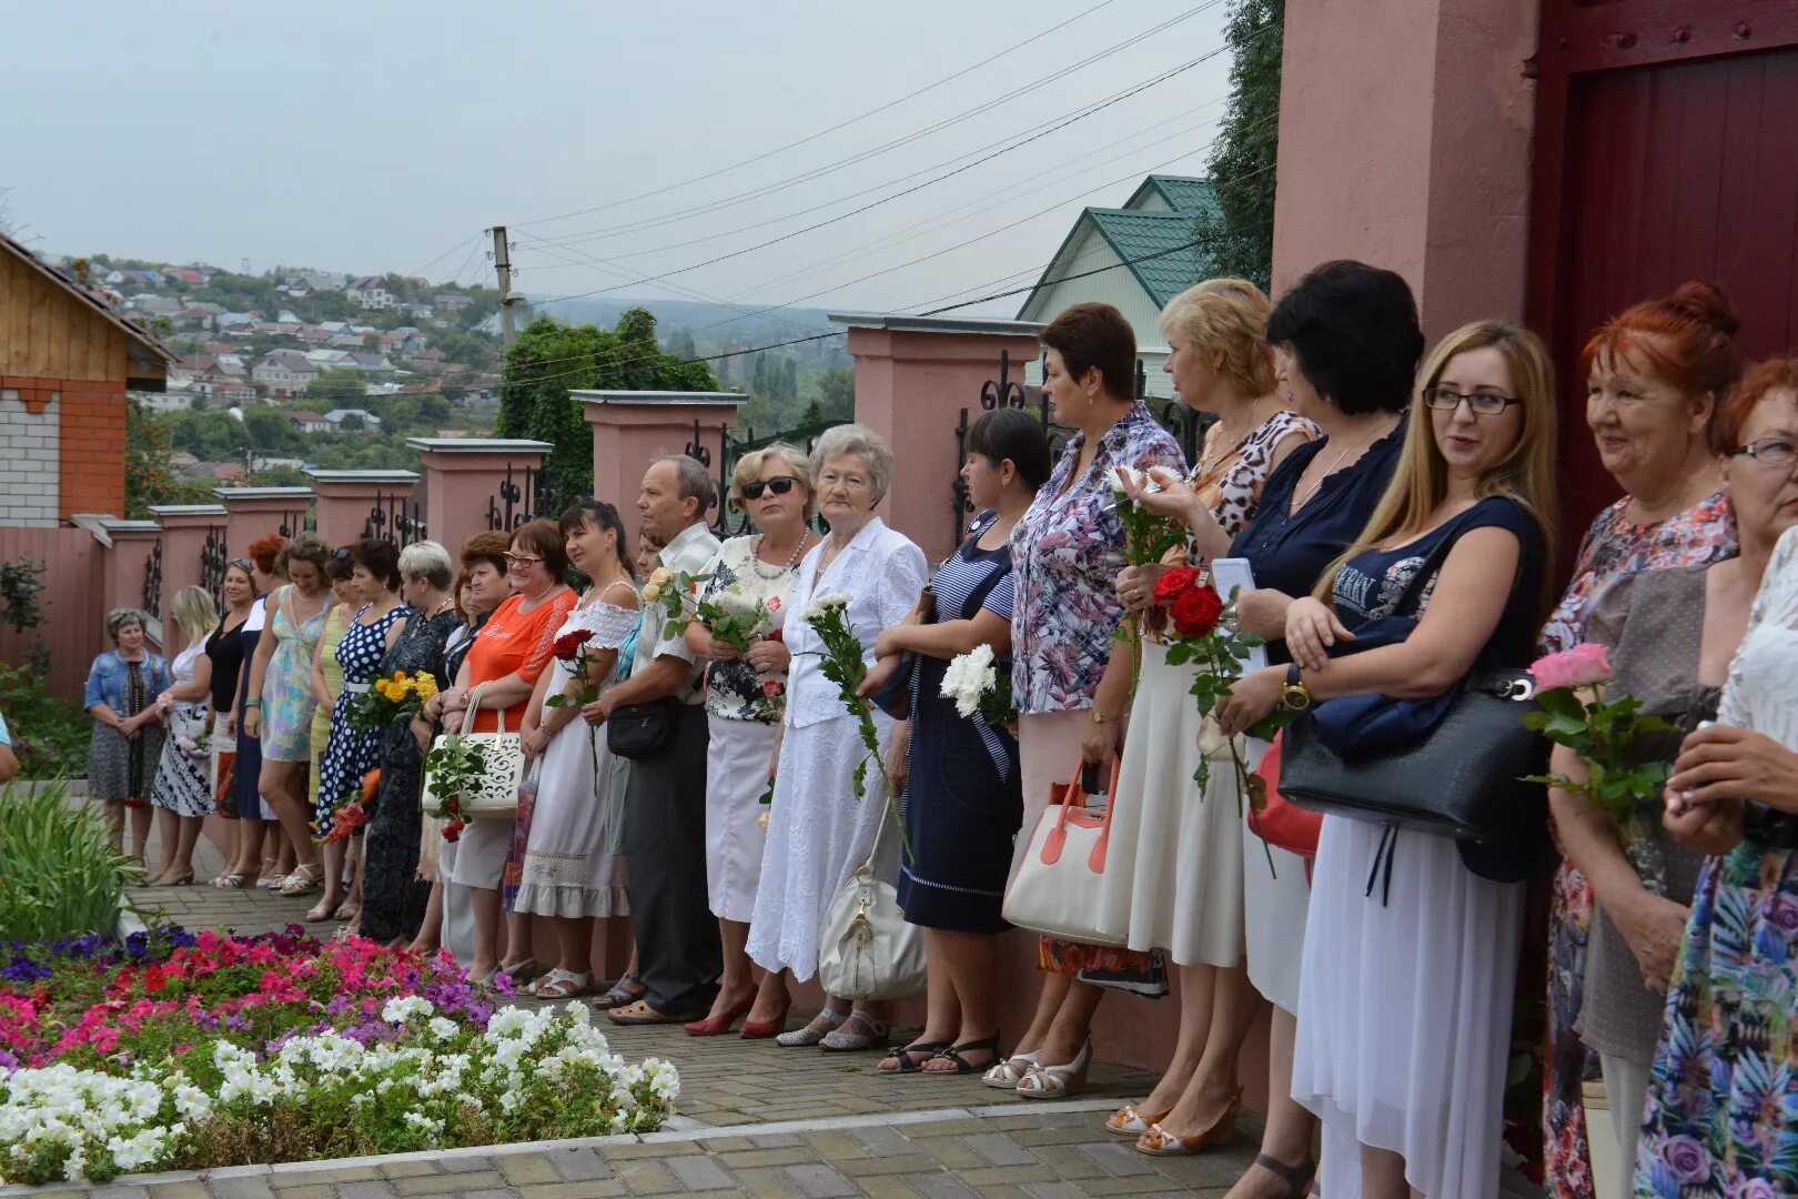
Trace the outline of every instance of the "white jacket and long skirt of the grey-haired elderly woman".
[[[791, 969], [800, 981], [818, 971], [818, 935], [831, 899], [867, 859], [877, 823], [892, 820], [881, 775], [872, 766], [867, 795], [856, 798], [850, 777], [865, 755], [859, 723], [843, 706], [836, 683], [818, 671], [823, 645], [804, 611], [818, 595], [849, 595], [849, 626], [872, 647], [881, 629], [912, 611], [930, 579], [924, 552], [879, 518], [856, 534], [820, 581], [822, 550], [820, 545], [806, 555], [793, 584], [793, 615], [786, 622], [793, 651], [786, 732], [750, 919], [750, 958], [770, 971]], [[885, 751], [894, 723], [876, 710], [874, 726]], [[899, 838], [888, 836], [881, 845], [877, 870], [892, 883], [899, 875]]]

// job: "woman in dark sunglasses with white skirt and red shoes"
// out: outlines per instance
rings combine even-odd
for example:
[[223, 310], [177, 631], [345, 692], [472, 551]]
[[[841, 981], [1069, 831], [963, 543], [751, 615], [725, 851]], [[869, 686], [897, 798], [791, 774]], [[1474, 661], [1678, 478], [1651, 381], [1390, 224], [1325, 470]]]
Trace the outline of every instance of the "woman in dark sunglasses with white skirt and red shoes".
[[779, 971], [766, 971], [757, 987], [746, 946], [768, 841], [761, 820], [768, 809], [761, 796], [768, 789], [775, 728], [786, 710], [791, 662], [780, 627], [798, 563], [816, 541], [806, 527], [813, 512], [806, 455], [786, 442], [743, 455], [730, 478], [730, 507], [746, 514], [759, 532], [719, 546], [699, 599], [726, 613], [752, 613], [761, 604], [768, 618], [746, 654], [714, 638], [698, 620], [687, 626], [687, 645], [707, 660], [705, 710], [712, 732], [705, 775], [705, 870], [725, 951], [725, 974], [710, 1014], [687, 1025], [696, 1037], [730, 1032], [743, 1016], [748, 1017], [744, 1035], [759, 1028], [766, 1030], [761, 1035], [773, 1035], [789, 1003]]

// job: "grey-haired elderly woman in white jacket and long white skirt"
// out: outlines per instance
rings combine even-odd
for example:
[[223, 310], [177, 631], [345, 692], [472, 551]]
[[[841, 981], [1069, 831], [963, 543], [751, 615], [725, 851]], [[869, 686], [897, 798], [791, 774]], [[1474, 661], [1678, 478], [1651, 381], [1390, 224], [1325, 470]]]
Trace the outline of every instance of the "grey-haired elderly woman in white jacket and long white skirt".
[[[813, 493], [831, 532], [806, 554], [793, 584], [788, 708], [775, 742], [773, 809], [750, 920], [750, 958], [768, 971], [791, 971], [800, 981], [818, 969], [818, 937], [831, 899], [868, 859], [879, 823], [892, 820], [879, 771], [870, 768], [867, 795], [854, 796], [852, 775], [867, 753], [859, 723], [818, 669], [823, 645], [804, 618], [816, 599], [845, 595], [849, 627], [872, 665], [874, 638], [904, 620], [917, 602], [930, 577], [924, 552], [874, 514], [892, 471], [886, 440], [861, 424], [829, 430], [811, 453]], [[885, 751], [894, 721], [876, 712], [874, 723]], [[897, 848], [895, 832], [883, 838], [883, 877], [897, 874]], [[847, 999], [829, 996], [816, 1019], [780, 1035], [779, 1044], [868, 1050], [883, 1048], [886, 1035], [872, 1007], [850, 1010]]]

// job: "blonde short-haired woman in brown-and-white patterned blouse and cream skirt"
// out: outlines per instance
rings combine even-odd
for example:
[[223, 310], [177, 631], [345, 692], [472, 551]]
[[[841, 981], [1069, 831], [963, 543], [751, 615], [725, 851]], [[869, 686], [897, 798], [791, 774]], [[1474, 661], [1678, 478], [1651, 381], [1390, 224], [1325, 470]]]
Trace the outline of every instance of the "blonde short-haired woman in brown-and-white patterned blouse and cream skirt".
[[[1318, 435], [1277, 390], [1266, 336], [1271, 311], [1246, 279], [1212, 279], [1162, 313], [1163, 370], [1174, 392], [1217, 417], [1185, 489], [1174, 493], [1188, 496], [1179, 518], [1192, 528], [1192, 545], [1183, 557], [1196, 566], [1228, 552], [1260, 507], [1273, 467]], [[1099, 922], [1127, 933], [1131, 949], [1165, 949], [1179, 967], [1179, 1039], [1149, 1098], [1120, 1107], [1106, 1129], [1142, 1138], [1144, 1152], [1190, 1154], [1228, 1138], [1235, 1125], [1242, 1095], [1235, 1059], [1260, 998], [1244, 958], [1237, 778], [1224, 757], [1214, 762], [1203, 795], [1192, 784], [1201, 723], [1188, 694], [1194, 667], [1167, 663], [1165, 615], [1154, 608], [1165, 570], [1126, 566], [1118, 575], [1124, 608], [1142, 613], [1142, 679], [1124, 742]], [[1219, 741], [1215, 726], [1210, 733], [1208, 741]]]

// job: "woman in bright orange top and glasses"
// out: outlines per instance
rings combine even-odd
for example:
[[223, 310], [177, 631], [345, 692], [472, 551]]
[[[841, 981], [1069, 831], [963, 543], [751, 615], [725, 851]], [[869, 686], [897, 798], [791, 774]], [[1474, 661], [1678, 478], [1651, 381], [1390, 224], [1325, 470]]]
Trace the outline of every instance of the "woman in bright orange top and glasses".
[[[485, 685], [480, 712], [467, 732], [494, 732], [502, 710], [507, 732], [523, 726], [530, 692], [550, 663], [556, 629], [575, 602], [574, 591], [563, 582], [566, 570], [568, 555], [556, 521], [534, 520], [512, 534], [512, 548], [505, 555], [512, 595], [482, 626], [455, 687], [442, 699], [444, 714], [460, 714], [467, 708], [471, 692]], [[446, 728], [460, 724], [460, 715], [444, 721]], [[469, 888], [469, 906], [475, 911], [475, 960], [469, 974], [476, 980], [489, 978], [500, 967], [500, 875], [511, 839], [509, 820], [471, 822], [462, 830], [451, 870], [451, 881]], [[530, 944], [511, 946], [511, 951], [514, 965], [503, 969], [520, 974], [530, 960]]]

